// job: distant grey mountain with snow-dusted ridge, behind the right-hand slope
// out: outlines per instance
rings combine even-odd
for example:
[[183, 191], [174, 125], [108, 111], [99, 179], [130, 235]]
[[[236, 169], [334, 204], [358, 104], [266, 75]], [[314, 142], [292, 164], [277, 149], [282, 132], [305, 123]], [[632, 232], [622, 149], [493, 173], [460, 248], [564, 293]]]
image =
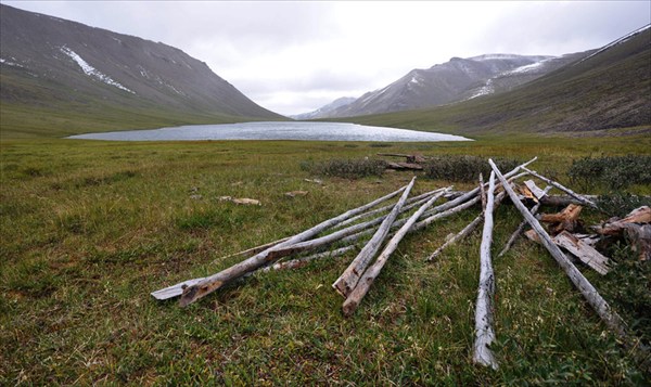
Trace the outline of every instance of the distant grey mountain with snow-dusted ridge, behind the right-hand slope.
[[513, 54], [452, 57], [426, 69], [413, 69], [387, 87], [368, 92], [322, 117], [409, 111], [503, 92], [580, 56], [583, 54], [561, 57]]

